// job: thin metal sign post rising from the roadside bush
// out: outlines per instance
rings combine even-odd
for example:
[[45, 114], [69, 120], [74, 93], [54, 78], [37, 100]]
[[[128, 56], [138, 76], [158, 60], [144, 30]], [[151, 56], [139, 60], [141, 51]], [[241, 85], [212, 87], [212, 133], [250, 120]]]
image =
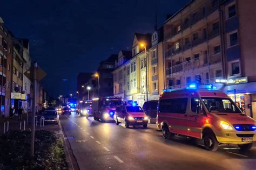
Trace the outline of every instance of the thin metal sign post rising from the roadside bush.
[[36, 116], [36, 86], [37, 86], [37, 62], [34, 62], [33, 68], [33, 107], [32, 107], [32, 130], [31, 130], [31, 148], [30, 155], [34, 155], [35, 145], [35, 116]]

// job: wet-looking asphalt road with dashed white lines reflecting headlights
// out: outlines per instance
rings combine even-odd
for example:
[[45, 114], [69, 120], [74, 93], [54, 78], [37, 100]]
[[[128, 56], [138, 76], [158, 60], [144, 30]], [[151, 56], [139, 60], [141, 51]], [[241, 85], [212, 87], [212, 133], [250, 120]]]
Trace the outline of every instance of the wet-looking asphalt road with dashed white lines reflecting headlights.
[[164, 139], [154, 124], [126, 129], [75, 113], [60, 123], [80, 169], [256, 169], [255, 144], [247, 152], [235, 145], [209, 152], [200, 141]]

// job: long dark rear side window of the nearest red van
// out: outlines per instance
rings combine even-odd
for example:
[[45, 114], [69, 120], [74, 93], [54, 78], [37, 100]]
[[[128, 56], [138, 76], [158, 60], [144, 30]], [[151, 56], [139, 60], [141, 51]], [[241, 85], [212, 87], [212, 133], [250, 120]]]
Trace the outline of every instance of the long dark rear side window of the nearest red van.
[[187, 107], [187, 98], [170, 98], [160, 100], [159, 112], [185, 114]]

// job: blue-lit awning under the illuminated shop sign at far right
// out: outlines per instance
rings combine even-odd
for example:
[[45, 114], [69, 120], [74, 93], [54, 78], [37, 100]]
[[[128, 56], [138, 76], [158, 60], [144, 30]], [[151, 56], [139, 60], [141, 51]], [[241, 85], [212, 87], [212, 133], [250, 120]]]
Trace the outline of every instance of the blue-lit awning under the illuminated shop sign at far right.
[[226, 94], [234, 94], [234, 90], [235, 93], [256, 93], [256, 82], [226, 86], [223, 91]]

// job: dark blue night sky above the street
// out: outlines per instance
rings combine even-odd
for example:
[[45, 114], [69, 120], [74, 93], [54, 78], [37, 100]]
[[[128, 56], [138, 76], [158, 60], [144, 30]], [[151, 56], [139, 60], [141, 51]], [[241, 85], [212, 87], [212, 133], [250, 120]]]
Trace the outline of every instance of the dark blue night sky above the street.
[[[189, 0], [1, 0], [0, 17], [17, 38], [30, 40], [30, 55], [46, 71], [53, 96], [75, 93], [79, 72], [94, 72], [101, 60], [131, 49], [134, 32], [154, 31], [166, 15]], [[63, 81], [64, 80], [64, 81]]]

